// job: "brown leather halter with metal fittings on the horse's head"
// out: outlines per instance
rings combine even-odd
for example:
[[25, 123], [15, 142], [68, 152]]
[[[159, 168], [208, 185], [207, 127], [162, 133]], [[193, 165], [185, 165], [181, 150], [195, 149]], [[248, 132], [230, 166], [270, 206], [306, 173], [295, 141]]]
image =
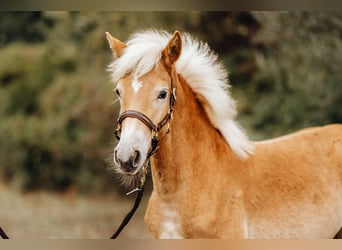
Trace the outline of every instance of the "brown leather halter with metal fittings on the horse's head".
[[[163, 117], [163, 119], [156, 125], [154, 122], [148, 118], [146, 115], [143, 113], [136, 111], [136, 110], [126, 110], [122, 112], [117, 120], [118, 127], [115, 130], [115, 136], [118, 140], [120, 140], [120, 134], [121, 134], [121, 125], [122, 122], [130, 117], [130, 118], [135, 118], [141, 121], [146, 127], [151, 129], [152, 133], [152, 140], [151, 140], [151, 151], [148, 154], [148, 158], [151, 157], [155, 152], [158, 150], [158, 144], [159, 144], [159, 137], [158, 134], [160, 130], [170, 122], [173, 118], [173, 107], [176, 102], [176, 89], [173, 86], [173, 79], [171, 77], [171, 88], [170, 88], [170, 103], [169, 103], [169, 110], [166, 113], [166, 115]], [[167, 133], [170, 132], [170, 127], [168, 127]]]

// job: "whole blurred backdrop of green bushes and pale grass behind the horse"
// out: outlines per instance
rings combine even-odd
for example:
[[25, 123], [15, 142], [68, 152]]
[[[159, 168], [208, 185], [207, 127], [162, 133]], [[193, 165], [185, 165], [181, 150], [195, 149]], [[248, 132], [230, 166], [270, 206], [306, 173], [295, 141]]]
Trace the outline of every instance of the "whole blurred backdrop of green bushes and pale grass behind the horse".
[[[130, 209], [111, 169], [104, 32], [146, 28], [209, 44], [253, 140], [342, 122], [341, 12], [1, 12], [0, 226], [13, 237], [107, 238]], [[123, 237], [148, 237], [148, 192]]]

